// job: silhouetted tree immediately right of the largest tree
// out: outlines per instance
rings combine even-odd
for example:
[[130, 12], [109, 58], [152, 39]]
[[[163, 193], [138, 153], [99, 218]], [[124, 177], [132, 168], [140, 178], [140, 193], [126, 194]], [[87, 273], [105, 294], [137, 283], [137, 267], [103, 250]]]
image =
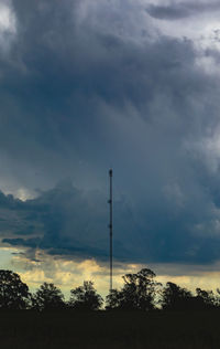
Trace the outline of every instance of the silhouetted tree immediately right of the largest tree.
[[180, 310], [190, 308], [193, 304], [193, 294], [174, 283], [166, 283], [162, 290], [162, 307], [167, 310]]

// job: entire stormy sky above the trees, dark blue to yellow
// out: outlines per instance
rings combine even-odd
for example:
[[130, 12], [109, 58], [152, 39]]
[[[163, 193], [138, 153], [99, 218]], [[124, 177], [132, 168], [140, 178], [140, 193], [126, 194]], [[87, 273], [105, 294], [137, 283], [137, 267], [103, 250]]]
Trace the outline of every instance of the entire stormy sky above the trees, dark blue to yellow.
[[0, 0], [0, 265], [33, 289], [220, 277], [220, 4]]

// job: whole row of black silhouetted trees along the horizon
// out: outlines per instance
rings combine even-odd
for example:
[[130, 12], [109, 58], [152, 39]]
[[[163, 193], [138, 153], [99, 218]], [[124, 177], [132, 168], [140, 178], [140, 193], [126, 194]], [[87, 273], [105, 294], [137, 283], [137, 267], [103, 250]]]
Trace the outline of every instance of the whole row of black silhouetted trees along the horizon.
[[91, 281], [70, 289], [68, 300], [53, 283], [43, 283], [35, 293], [21, 281], [19, 274], [0, 269], [0, 309], [38, 311], [55, 309], [74, 310], [205, 310], [220, 309], [220, 290], [196, 288], [193, 294], [187, 288], [174, 283], [163, 286], [155, 279], [156, 275], [148, 268], [135, 274], [122, 276], [121, 289], [112, 289], [105, 300]]

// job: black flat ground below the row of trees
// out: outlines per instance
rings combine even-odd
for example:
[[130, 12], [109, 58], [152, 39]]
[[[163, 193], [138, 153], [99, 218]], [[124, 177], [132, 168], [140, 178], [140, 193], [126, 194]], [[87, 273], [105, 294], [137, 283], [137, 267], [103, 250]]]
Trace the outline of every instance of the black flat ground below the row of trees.
[[220, 348], [220, 311], [0, 313], [2, 349]]

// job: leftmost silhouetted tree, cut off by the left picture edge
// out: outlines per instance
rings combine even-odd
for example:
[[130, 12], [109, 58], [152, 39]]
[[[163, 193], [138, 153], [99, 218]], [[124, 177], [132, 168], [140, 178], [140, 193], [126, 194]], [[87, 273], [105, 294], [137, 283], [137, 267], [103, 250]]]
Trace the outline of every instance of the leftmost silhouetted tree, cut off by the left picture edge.
[[31, 300], [26, 284], [11, 271], [0, 269], [0, 308], [25, 309]]

